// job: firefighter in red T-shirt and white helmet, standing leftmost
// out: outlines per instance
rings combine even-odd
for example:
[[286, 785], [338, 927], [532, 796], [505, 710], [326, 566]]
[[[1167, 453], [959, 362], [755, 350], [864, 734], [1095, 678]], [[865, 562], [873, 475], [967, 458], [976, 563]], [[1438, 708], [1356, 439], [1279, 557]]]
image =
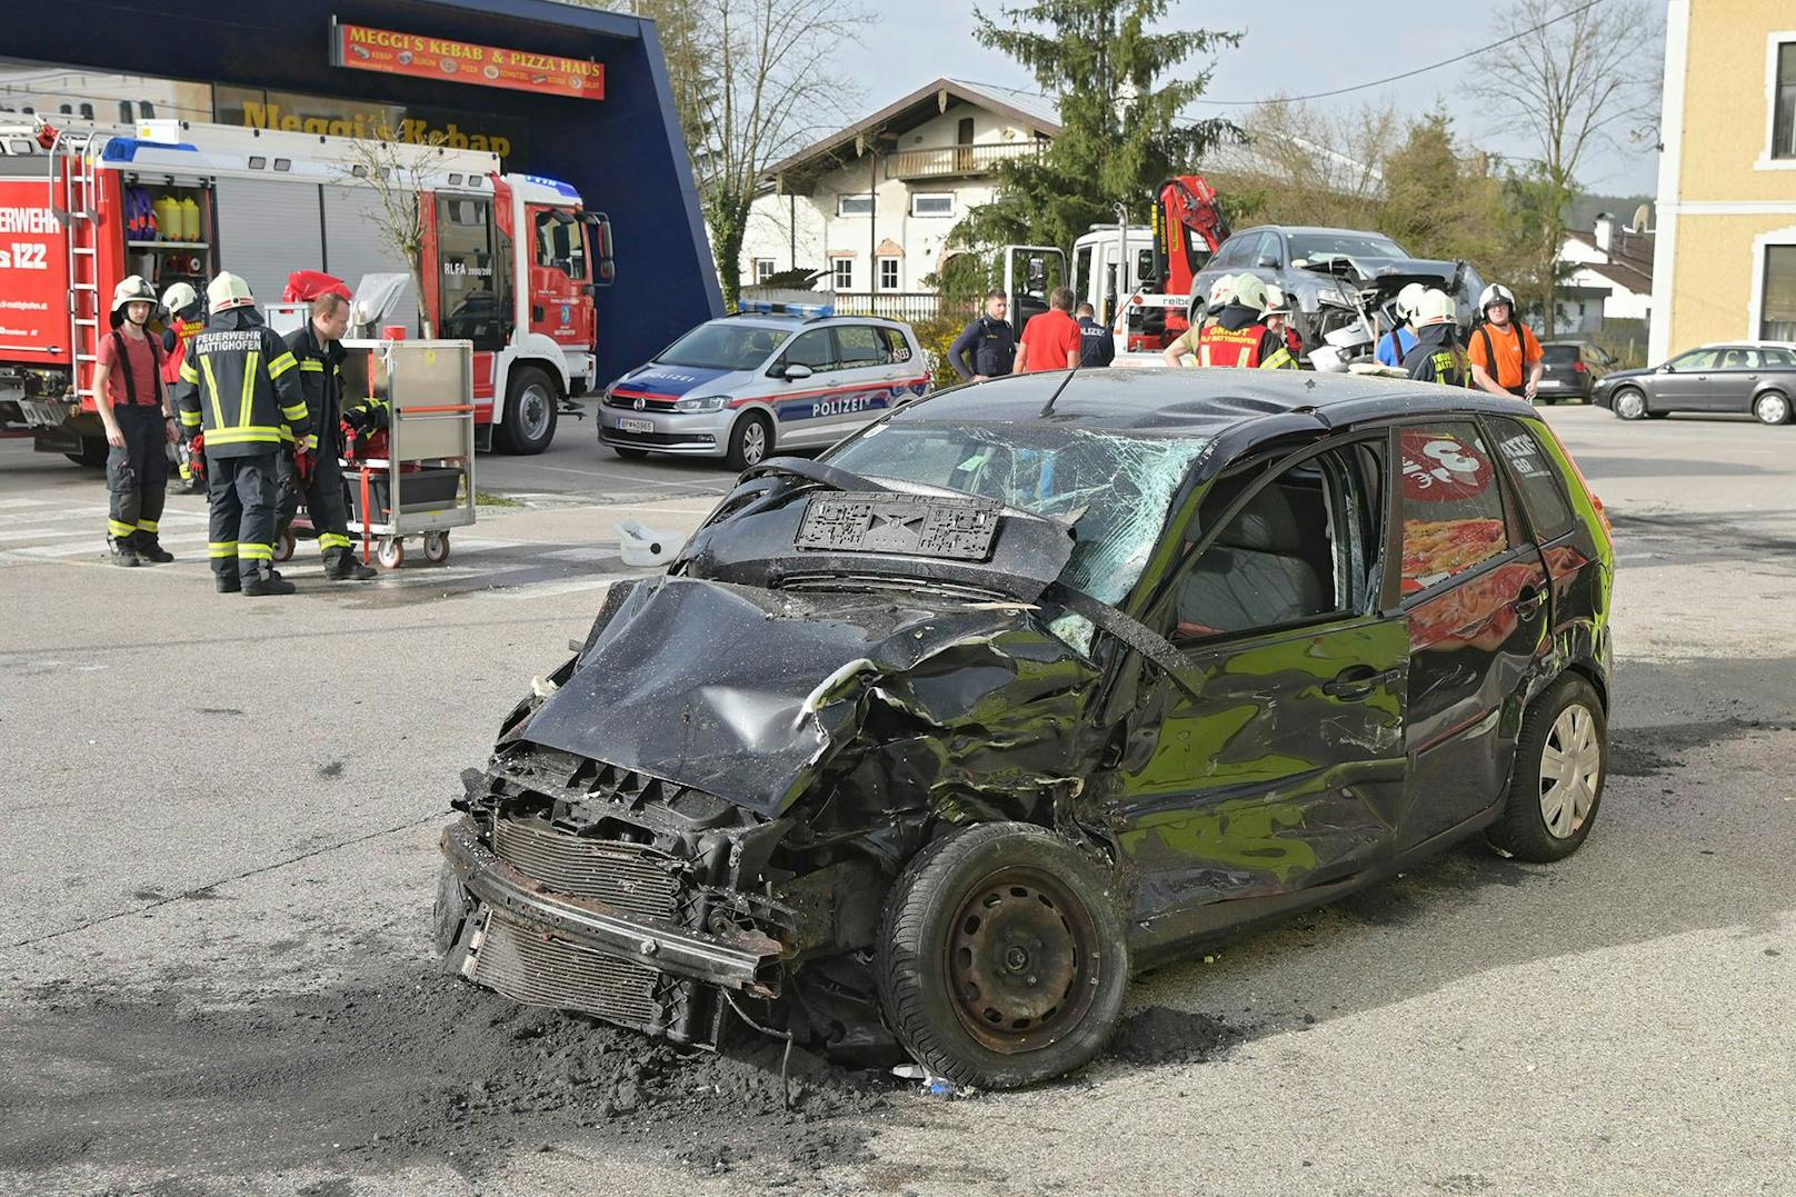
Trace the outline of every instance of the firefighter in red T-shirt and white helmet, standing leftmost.
[[113, 331], [101, 338], [93, 406], [106, 426], [106, 489], [111, 492], [106, 543], [113, 564], [163, 564], [174, 554], [158, 543], [169, 487], [172, 408], [162, 385], [162, 343], [144, 331], [156, 291], [131, 275], [113, 288]]

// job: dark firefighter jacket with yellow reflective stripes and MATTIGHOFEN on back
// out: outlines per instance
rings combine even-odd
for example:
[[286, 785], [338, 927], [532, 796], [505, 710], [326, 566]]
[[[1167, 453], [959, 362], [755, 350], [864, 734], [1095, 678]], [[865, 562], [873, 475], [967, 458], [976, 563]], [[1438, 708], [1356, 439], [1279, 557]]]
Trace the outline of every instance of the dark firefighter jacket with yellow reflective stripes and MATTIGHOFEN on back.
[[187, 345], [178, 403], [212, 457], [277, 453], [311, 433], [300, 363], [248, 307], [217, 313]]

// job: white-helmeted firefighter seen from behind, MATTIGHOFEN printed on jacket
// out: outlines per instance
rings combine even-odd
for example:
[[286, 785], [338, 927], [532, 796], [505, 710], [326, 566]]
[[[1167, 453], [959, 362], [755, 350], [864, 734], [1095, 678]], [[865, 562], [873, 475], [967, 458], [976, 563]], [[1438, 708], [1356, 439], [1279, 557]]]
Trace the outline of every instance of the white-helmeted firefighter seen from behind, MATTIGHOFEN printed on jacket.
[[[205, 433], [212, 582], [221, 595], [291, 595], [273, 566], [275, 473], [282, 442], [311, 433], [300, 367], [242, 279], [221, 273], [207, 300], [212, 320], [181, 365], [181, 422]], [[298, 469], [311, 474], [304, 448]]]

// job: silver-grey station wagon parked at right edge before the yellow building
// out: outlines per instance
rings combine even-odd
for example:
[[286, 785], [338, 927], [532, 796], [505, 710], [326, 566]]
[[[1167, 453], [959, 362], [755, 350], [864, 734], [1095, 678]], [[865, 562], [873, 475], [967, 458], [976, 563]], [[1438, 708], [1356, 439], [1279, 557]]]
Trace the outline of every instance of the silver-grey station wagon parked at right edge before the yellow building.
[[1624, 421], [1735, 412], [1755, 415], [1760, 424], [1787, 424], [1796, 410], [1796, 345], [1703, 345], [1647, 370], [1609, 374], [1597, 383], [1591, 403]]

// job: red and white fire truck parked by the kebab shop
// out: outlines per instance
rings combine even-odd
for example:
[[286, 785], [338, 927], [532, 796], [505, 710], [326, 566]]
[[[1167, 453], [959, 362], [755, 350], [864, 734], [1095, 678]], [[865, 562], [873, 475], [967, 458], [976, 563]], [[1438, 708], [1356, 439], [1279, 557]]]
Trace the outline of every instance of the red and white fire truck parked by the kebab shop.
[[541, 453], [564, 404], [602, 381], [593, 295], [612, 277], [611, 225], [568, 183], [442, 146], [0, 126], [0, 435], [104, 460], [93, 363], [126, 275], [205, 293], [230, 270], [266, 304], [295, 270], [411, 275], [408, 237], [427, 320], [408, 289], [386, 324], [472, 341], [481, 446]]

